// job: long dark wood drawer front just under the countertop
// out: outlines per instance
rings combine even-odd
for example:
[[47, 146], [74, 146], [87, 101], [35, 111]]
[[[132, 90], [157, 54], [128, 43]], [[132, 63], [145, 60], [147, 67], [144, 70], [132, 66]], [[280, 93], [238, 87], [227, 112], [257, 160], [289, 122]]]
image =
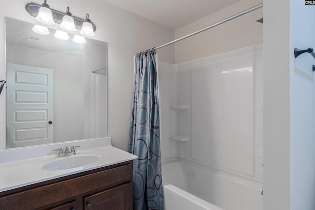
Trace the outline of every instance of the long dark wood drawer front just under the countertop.
[[[126, 165], [119, 165], [115, 168], [104, 168], [103, 171], [97, 169], [96, 172], [83, 175], [69, 180], [17, 192], [12, 195], [0, 197], [0, 210], [33, 210], [42, 209], [47, 205], [60, 203], [66, 199], [74, 199], [79, 195], [89, 192], [97, 192], [115, 187], [124, 183], [132, 182], [132, 162]], [[71, 177], [71, 176], [69, 176]]]

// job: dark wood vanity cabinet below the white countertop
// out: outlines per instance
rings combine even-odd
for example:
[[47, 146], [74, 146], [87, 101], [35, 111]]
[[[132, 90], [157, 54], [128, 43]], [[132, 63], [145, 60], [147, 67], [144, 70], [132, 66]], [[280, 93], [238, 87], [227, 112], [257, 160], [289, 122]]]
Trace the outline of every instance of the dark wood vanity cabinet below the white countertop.
[[132, 210], [132, 161], [0, 192], [0, 210]]

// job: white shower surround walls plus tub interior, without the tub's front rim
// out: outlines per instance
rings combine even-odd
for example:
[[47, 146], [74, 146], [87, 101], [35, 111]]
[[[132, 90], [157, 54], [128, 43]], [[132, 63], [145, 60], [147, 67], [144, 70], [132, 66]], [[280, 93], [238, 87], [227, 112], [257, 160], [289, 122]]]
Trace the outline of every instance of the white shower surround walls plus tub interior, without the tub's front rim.
[[159, 62], [163, 184], [226, 210], [263, 209], [262, 63], [262, 45]]

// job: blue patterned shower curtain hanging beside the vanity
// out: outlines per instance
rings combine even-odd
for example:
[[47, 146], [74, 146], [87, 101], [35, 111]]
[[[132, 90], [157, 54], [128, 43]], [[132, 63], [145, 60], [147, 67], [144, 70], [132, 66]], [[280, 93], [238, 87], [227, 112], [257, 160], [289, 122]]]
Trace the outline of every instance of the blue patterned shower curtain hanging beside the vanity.
[[134, 210], [163, 210], [156, 52], [135, 58], [128, 152], [133, 161]]

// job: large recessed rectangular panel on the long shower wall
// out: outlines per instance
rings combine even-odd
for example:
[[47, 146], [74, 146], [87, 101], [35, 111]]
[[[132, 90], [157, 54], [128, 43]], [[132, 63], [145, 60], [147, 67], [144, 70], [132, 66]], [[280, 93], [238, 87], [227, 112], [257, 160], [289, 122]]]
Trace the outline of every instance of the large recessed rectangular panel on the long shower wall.
[[191, 157], [253, 176], [253, 59], [191, 70]]

